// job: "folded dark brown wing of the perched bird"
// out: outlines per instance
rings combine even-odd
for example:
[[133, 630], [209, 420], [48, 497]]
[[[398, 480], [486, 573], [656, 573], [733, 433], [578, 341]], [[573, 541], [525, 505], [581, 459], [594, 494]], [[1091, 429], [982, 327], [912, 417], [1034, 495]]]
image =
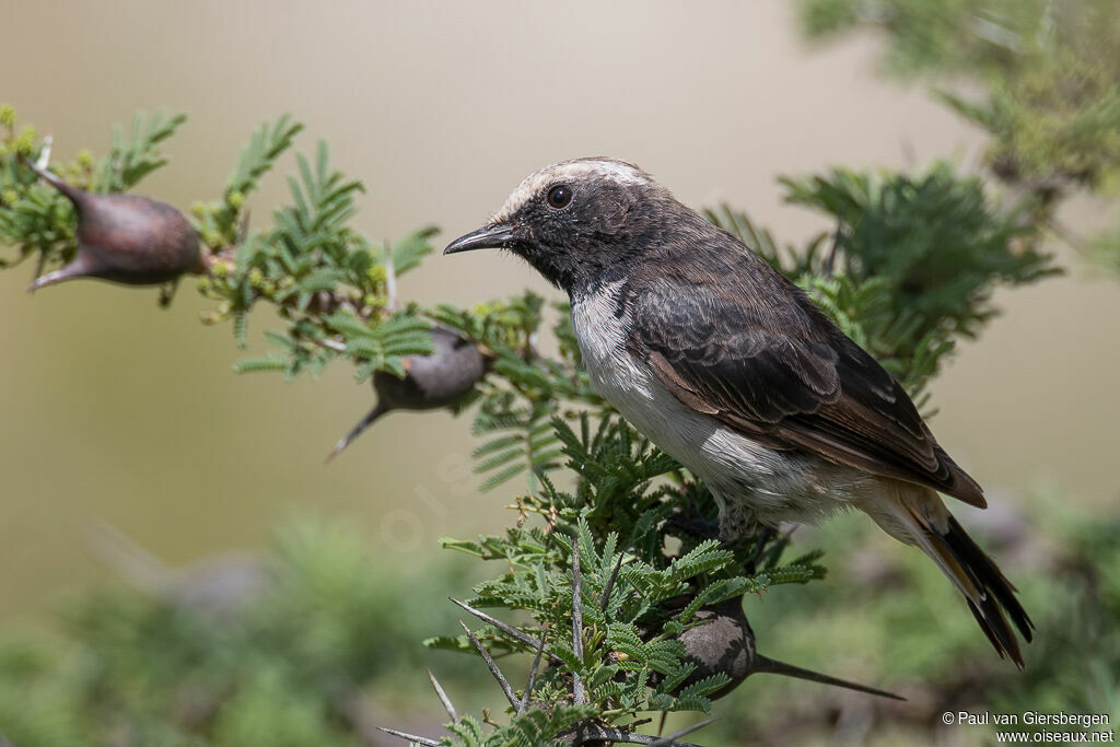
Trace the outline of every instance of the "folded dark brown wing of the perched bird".
[[627, 301], [633, 351], [681, 402], [747, 437], [986, 506], [903, 387], [796, 287], [765, 280], [778, 292], [760, 305], [659, 278]]

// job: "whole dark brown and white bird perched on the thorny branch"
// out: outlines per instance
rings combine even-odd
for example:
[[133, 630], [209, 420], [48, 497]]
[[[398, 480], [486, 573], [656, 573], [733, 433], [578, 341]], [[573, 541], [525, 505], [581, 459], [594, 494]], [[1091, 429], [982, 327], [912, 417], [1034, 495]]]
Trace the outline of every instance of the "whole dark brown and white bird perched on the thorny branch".
[[502, 248], [571, 298], [591, 383], [700, 476], [734, 540], [754, 519], [859, 508], [918, 547], [1020, 669], [1015, 587], [939, 492], [986, 507], [903, 387], [790, 280], [637, 167], [562, 161], [529, 176], [445, 254]]

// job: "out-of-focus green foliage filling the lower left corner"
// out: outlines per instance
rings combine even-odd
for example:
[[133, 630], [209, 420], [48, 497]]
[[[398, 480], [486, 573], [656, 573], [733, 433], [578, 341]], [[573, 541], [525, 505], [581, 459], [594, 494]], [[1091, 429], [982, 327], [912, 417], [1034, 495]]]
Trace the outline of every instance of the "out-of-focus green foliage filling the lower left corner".
[[[446, 594], [431, 579], [455, 569], [388, 573], [366, 538], [317, 520], [288, 522], [258, 557], [123, 571], [156, 581], [91, 592], [57, 629], [0, 643], [12, 744], [366, 744], [371, 718], [419, 698], [417, 628], [452, 618], [416, 588]], [[469, 684], [465, 663], [441, 670]]]

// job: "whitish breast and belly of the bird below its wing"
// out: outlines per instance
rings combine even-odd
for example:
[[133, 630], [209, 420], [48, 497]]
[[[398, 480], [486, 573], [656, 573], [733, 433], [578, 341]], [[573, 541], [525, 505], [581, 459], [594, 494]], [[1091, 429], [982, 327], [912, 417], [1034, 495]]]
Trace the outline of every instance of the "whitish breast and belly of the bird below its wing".
[[769, 523], [813, 521], [862, 497], [870, 476], [797, 451], [748, 440], [685, 407], [626, 349], [629, 312], [617, 316], [623, 281], [575, 301], [571, 320], [591, 384], [638, 431], [704, 479], [719, 501], [725, 535], [744, 508]]

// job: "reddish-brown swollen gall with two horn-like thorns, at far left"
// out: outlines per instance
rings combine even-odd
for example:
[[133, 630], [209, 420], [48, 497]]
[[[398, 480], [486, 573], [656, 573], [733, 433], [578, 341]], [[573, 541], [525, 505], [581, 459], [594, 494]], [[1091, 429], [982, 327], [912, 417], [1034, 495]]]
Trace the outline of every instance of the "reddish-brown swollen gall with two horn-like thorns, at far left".
[[198, 234], [183, 213], [167, 203], [140, 195], [95, 195], [24, 162], [65, 195], [77, 212], [74, 260], [37, 278], [29, 290], [72, 278], [148, 286], [203, 271]]

